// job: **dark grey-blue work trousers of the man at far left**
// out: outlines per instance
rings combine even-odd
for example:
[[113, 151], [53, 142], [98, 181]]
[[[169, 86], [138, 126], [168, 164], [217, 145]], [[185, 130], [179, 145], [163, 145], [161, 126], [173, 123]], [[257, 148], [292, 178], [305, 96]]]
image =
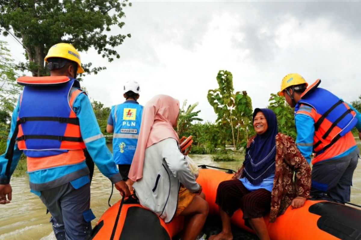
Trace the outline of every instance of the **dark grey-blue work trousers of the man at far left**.
[[75, 189], [70, 183], [41, 191], [52, 217], [50, 222], [57, 240], [84, 240], [91, 231], [90, 184]]

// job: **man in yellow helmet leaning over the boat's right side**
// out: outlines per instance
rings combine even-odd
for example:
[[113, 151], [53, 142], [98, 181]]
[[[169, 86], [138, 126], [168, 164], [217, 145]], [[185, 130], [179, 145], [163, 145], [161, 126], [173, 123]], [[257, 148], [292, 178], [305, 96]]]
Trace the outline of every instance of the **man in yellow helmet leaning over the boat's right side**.
[[361, 114], [331, 92], [312, 85], [297, 73], [287, 74], [278, 95], [295, 108], [296, 145], [308, 163], [312, 159], [311, 195], [345, 203], [350, 200], [359, 150], [351, 133]]

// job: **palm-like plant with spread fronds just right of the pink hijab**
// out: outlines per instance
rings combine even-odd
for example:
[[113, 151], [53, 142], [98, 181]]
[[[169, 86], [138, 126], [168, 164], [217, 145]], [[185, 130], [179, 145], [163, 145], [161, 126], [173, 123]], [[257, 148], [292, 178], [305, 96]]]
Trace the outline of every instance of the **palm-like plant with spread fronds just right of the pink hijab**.
[[203, 119], [197, 117], [201, 110], [193, 112], [198, 104], [198, 102], [190, 104], [188, 105], [187, 109], [185, 109], [187, 100], [184, 100], [182, 108], [179, 109], [179, 116], [177, 121], [177, 133], [179, 137], [184, 136], [183, 133], [187, 134], [187, 131], [193, 121], [203, 121]]

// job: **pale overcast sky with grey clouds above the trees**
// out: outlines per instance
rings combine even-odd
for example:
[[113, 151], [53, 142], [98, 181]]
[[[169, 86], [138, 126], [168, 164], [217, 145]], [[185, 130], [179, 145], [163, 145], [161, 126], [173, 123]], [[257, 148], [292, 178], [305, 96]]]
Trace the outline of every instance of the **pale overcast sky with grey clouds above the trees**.
[[[83, 63], [106, 66], [84, 77], [92, 99], [105, 106], [121, 103], [123, 83], [140, 83], [140, 104], [168, 94], [188, 104], [199, 102], [200, 117], [216, 114], [206, 95], [218, 87], [219, 70], [232, 72], [235, 91], [246, 90], [253, 108], [266, 107], [282, 78], [300, 73], [345, 101], [361, 95], [360, 2], [131, 1], [125, 26], [131, 33], [117, 47], [121, 58], [109, 63], [95, 51]], [[10, 37], [15, 62], [23, 50]]]

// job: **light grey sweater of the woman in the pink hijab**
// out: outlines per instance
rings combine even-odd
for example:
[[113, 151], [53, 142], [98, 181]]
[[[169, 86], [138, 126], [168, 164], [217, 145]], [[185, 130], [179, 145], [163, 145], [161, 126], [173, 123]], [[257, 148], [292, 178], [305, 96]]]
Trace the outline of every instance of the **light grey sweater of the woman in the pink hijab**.
[[199, 189], [184, 155], [173, 138], [145, 149], [143, 177], [134, 183], [140, 204], [170, 222], [177, 210], [178, 191], [182, 183], [192, 193]]

